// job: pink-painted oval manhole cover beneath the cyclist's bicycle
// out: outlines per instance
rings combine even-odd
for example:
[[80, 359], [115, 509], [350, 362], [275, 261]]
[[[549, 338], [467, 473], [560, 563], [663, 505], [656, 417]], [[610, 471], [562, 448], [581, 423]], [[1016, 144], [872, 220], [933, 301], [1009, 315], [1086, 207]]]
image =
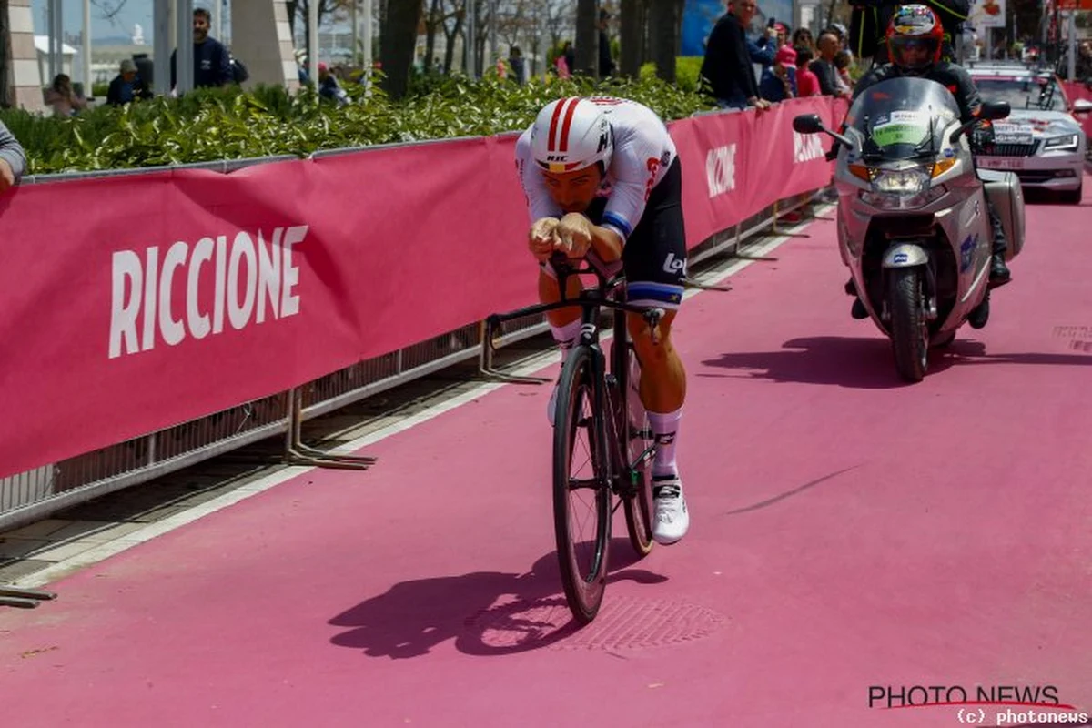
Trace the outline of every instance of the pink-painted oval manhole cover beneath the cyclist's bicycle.
[[484, 609], [465, 622], [482, 646], [496, 651], [649, 649], [701, 640], [727, 618], [707, 607], [673, 599], [604, 597], [598, 616], [577, 629], [563, 596], [517, 599]]

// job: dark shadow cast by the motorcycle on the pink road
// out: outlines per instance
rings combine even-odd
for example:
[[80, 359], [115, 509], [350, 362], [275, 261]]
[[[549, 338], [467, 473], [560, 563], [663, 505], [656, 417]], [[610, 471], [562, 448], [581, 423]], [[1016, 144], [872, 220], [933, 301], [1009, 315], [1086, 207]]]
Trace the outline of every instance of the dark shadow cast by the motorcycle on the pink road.
[[[698, 377], [745, 377], [862, 390], [913, 386], [895, 373], [891, 343], [880, 336], [794, 338], [778, 351], [735, 351], [722, 354], [717, 359], [705, 359], [702, 363], [737, 371], [727, 374], [700, 371]], [[987, 354], [985, 344], [966, 338], [957, 338], [947, 348], [929, 351], [929, 374], [952, 366], [999, 363], [1088, 366], [1092, 365], [1092, 356], [1048, 351]]]

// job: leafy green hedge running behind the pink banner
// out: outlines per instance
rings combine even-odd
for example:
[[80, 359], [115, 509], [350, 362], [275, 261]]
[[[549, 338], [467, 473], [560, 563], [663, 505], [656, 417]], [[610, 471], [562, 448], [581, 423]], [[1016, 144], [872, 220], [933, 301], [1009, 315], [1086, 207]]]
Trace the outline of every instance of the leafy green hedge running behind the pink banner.
[[43, 117], [21, 109], [0, 111], [23, 144], [28, 174], [120, 169], [239, 159], [268, 155], [307, 156], [318, 150], [489, 135], [523, 129], [551, 99], [593, 94], [646, 104], [664, 119], [712, 108], [690, 91], [654, 77], [640, 81], [586, 79], [550, 83], [443, 76], [392, 102], [348, 84], [354, 103], [336, 107], [310, 88], [290, 95], [283, 87], [245, 93], [236, 87], [198, 89], [180, 99], [158, 97], [124, 107], [96, 107], [73, 118]]

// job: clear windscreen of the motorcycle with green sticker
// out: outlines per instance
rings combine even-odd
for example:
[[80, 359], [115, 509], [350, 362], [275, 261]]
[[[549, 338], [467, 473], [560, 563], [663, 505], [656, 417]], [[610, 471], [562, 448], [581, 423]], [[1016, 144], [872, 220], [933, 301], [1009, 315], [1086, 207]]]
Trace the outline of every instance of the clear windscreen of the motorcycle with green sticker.
[[956, 98], [927, 79], [888, 79], [857, 96], [846, 127], [862, 138], [864, 156], [881, 160], [931, 157], [945, 148], [943, 131], [959, 119]]

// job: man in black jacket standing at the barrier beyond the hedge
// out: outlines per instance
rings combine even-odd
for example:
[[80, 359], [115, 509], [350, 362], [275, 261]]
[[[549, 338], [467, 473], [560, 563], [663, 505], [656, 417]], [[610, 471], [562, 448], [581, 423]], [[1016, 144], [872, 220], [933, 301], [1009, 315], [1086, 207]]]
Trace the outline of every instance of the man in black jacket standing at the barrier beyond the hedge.
[[716, 21], [705, 43], [701, 62], [702, 89], [721, 108], [770, 108], [758, 93], [758, 80], [747, 50], [746, 29], [758, 4], [755, 0], [729, 0], [728, 12]]

